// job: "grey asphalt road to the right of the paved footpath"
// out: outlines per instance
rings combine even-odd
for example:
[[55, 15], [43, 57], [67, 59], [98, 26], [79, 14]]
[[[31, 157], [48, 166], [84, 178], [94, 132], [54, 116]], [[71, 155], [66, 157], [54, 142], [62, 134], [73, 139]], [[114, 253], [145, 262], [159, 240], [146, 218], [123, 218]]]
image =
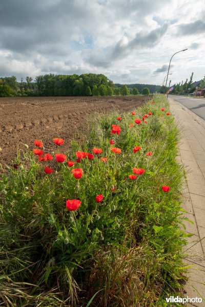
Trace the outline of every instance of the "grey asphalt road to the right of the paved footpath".
[[205, 98], [193, 98], [176, 95], [169, 95], [169, 97], [185, 105], [188, 109], [205, 120]]

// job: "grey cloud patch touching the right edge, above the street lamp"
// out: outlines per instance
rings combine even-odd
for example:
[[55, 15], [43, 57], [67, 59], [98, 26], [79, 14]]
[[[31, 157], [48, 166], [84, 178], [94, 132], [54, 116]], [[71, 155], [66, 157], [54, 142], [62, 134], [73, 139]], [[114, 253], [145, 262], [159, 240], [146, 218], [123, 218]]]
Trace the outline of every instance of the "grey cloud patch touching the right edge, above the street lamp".
[[178, 26], [177, 35], [194, 35], [205, 32], [205, 22], [197, 20], [190, 24], [181, 24]]

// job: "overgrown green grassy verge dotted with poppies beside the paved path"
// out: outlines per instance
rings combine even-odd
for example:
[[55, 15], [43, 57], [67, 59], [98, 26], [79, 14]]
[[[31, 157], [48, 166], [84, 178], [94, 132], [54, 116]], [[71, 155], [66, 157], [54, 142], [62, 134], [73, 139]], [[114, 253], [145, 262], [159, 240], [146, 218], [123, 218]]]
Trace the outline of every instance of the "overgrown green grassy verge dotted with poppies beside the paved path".
[[[96, 114], [84, 147], [72, 142], [66, 153], [75, 162], [72, 167], [55, 159], [39, 162], [25, 149], [14, 168], [2, 168], [3, 305], [86, 306], [99, 291], [90, 305], [166, 306], [165, 297], [180, 291], [185, 234], [178, 227], [183, 178], [175, 161], [179, 133], [162, 95], [133, 111], [120, 121], [117, 113]], [[149, 112], [145, 123], [142, 117]], [[111, 135], [113, 124], [120, 126], [119, 135]], [[135, 146], [140, 149], [133, 152]], [[61, 153], [60, 145], [55, 147]], [[102, 152], [94, 154], [94, 147]], [[78, 151], [94, 158], [77, 163]], [[45, 166], [54, 172], [45, 173]], [[75, 168], [83, 170], [79, 179]], [[131, 179], [133, 168], [145, 172]], [[162, 186], [171, 189], [165, 192]], [[81, 204], [70, 211], [68, 200]]]

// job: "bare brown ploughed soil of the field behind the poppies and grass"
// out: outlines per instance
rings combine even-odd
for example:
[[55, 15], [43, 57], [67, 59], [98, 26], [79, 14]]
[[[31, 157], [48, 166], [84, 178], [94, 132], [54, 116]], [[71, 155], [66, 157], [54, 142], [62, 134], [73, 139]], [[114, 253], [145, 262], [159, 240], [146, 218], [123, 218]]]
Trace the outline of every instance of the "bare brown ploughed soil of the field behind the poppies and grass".
[[144, 96], [0, 98], [0, 163], [12, 165], [17, 147], [28, 144], [32, 150], [36, 139], [43, 141], [47, 152], [55, 149], [53, 138], [64, 139], [60, 152], [66, 152], [72, 139], [85, 138], [88, 120], [95, 112], [118, 111], [120, 116], [147, 99]]

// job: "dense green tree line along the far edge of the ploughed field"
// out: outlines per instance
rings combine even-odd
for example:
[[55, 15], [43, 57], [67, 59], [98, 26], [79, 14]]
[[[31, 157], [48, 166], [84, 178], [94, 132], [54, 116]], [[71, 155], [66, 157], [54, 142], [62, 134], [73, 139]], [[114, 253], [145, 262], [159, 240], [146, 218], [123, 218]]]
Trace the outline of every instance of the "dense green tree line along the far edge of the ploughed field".
[[[130, 94], [137, 95], [140, 90], [135, 84], [114, 84], [103, 74], [36, 76], [34, 82], [29, 76], [17, 82], [15, 76], [0, 77], [0, 97], [6, 96], [112, 96]], [[151, 85], [150, 85], [151, 86]], [[155, 86], [155, 85], [154, 85]], [[141, 89], [141, 87], [139, 86]], [[147, 89], [147, 90], [146, 90]], [[149, 95], [146, 87], [142, 94]]]

